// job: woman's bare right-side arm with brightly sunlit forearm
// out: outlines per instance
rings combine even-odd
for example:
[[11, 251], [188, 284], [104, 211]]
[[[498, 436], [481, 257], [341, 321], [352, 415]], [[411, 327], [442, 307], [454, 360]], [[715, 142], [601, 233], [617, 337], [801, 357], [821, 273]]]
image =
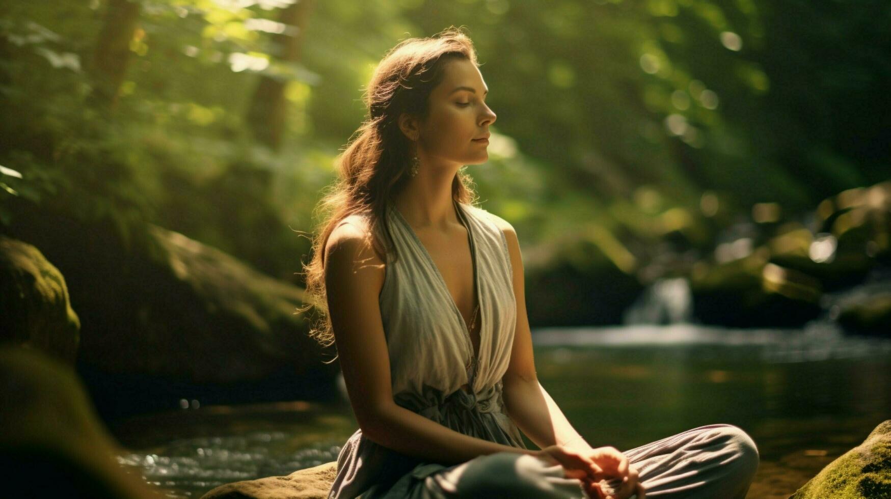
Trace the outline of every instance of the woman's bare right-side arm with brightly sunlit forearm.
[[517, 427], [535, 442], [536, 446], [544, 448], [561, 445], [579, 450], [590, 449], [591, 446], [569, 424], [560, 407], [548, 395], [535, 375], [519, 239], [511, 224], [500, 217], [495, 219], [501, 225], [507, 240], [513, 269], [513, 292], [517, 299], [517, 330], [511, 348], [511, 363], [503, 376], [505, 410]]

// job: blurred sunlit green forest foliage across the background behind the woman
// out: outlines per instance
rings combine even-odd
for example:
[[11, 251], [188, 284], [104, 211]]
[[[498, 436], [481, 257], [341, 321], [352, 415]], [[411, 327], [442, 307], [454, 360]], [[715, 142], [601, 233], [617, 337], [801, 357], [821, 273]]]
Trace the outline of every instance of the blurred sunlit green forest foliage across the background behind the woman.
[[[0, 176], [3, 225], [23, 206], [124, 234], [151, 221], [292, 278], [308, 241], [288, 228], [312, 228], [374, 64], [452, 24], [498, 114], [470, 173], [524, 244], [570, 234], [631, 273], [664, 243], [710, 251], [753, 203], [794, 213], [887, 176], [878, 0], [316, 1], [296, 62], [274, 44], [296, 33], [290, 0], [142, 0], [102, 106], [94, 53], [114, 4], [0, 12], [0, 165], [21, 174]], [[281, 151], [246, 122], [260, 78], [285, 84]]]

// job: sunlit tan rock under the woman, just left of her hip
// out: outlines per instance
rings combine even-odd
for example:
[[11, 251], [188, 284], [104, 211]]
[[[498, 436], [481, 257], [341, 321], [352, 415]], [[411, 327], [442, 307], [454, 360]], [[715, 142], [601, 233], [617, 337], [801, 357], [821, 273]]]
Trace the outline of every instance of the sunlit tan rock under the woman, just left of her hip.
[[336, 476], [337, 462], [326, 462], [284, 477], [221, 485], [201, 499], [325, 499]]

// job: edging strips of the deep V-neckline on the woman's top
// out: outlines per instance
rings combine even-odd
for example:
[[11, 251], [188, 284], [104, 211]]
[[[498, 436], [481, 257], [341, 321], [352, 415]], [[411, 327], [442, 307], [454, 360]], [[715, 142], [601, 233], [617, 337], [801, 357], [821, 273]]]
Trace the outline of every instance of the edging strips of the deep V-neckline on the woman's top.
[[[483, 302], [482, 293], [480, 292], [480, 288], [479, 288], [479, 265], [478, 265], [479, 262], [478, 262], [478, 258], [477, 258], [477, 243], [476, 243], [476, 238], [473, 233], [473, 224], [471, 224], [470, 221], [467, 219], [467, 214], [461, 208], [461, 205], [460, 205], [460, 203], [458, 203], [458, 201], [452, 200], [452, 202], [453, 202], [453, 205], [455, 208], [455, 213], [458, 216], [458, 221], [462, 225], [464, 225], [465, 229], [467, 229], [468, 239], [470, 241], [470, 262], [473, 266], [473, 286], [475, 288], [475, 290], [474, 290], [475, 294], [477, 295], [477, 303], [475, 304], [475, 306], [479, 307], [479, 323], [480, 323], [479, 351], [481, 351], [483, 349], [483, 340], [484, 340], [483, 335], [486, 332], [486, 318], [484, 316], [485, 307], [483, 307], [483, 303], [482, 303]], [[468, 367], [467, 371], [468, 371], [468, 382], [470, 383], [471, 389], [473, 389], [472, 388], [473, 387], [472, 373], [476, 372], [476, 366], [478, 365], [478, 359], [479, 359], [479, 352], [474, 351], [473, 339], [470, 337], [470, 329], [468, 329], [467, 323], [464, 322], [464, 316], [461, 314], [461, 309], [458, 308], [458, 305], [455, 302], [454, 297], [452, 296], [452, 292], [450, 290], [448, 290], [448, 285], [446, 284], [446, 279], [443, 277], [442, 273], [439, 271], [439, 267], [437, 267], [436, 262], [433, 261], [433, 257], [430, 256], [430, 253], [427, 250], [427, 247], [425, 247], [424, 243], [421, 242], [421, 238], [419, 238], [418, 234], [414, 232], [412, 225], [410, 225], [408, 223], [408, 220], [406, 220], [405, 217], [402, 216], [402, 212], [400, 212], [399, 209], [396, 208], [396, 203], [390, 203], [390, 207], [393, 209], [394, 213], [396, 213], [396, 218], [398, 218], [399, 221], [403, 225], [405, 225], [405, 229], [407, 230], [407, 232], [412, 235], [412, 239], [418, 245], [418, 249], [420, 250], [421, 254], [427, 260], [427, 263], [429, 264], [429, 266], [433, 269], [433, 274], [435, 274], [434, 281], [438, 282], [438, 285], [440, 286], [441, 290], [446, 292], [448, 301], [452, 305], [452, 311], [454, 312], [454, 315], [457, 316], [458, 322], [461, 323], [462, 331], [464, 331], [464, 339], [466, 339], [468, 344], [470, 345], [470, 367]]]

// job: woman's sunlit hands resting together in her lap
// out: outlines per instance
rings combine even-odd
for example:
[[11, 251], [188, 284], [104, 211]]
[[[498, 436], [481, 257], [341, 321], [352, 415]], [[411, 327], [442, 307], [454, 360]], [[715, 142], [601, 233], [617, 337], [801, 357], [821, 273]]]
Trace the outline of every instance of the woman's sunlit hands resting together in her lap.
[[[643, 486], [637, 481], [637, 470], [615, 447], [580, 450], [548, 446], [538, 451], [538, 455], [559, 463], [565, 470], [566, 478], [582, 480], [585, 492], [595, 499], [626, 499], [635, 493], [637, 499], [646, 497]], [[607, 494], [601, 488], [601, 480], [613, 478], [621, 479], [621, 485], [612, 494]]]

